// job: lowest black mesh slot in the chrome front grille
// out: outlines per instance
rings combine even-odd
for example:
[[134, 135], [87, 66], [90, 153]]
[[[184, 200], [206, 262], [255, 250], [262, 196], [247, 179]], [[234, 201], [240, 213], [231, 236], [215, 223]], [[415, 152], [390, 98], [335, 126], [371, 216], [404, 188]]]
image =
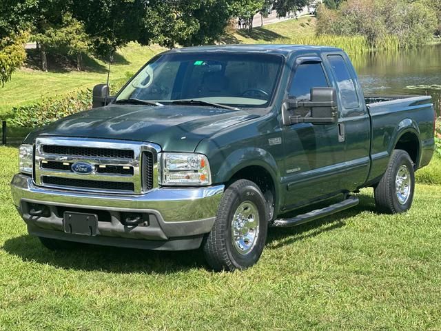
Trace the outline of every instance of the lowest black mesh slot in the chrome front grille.
[[119, 181], [89, 181], [87, 179], [72, 179], [62, 177], [42, 176], [41, 181], [45, 184], [57, 186], [70, 186], [74, 188], [93, 188], [98, 190], [123, 190], [133, 191], [133, 183]]

